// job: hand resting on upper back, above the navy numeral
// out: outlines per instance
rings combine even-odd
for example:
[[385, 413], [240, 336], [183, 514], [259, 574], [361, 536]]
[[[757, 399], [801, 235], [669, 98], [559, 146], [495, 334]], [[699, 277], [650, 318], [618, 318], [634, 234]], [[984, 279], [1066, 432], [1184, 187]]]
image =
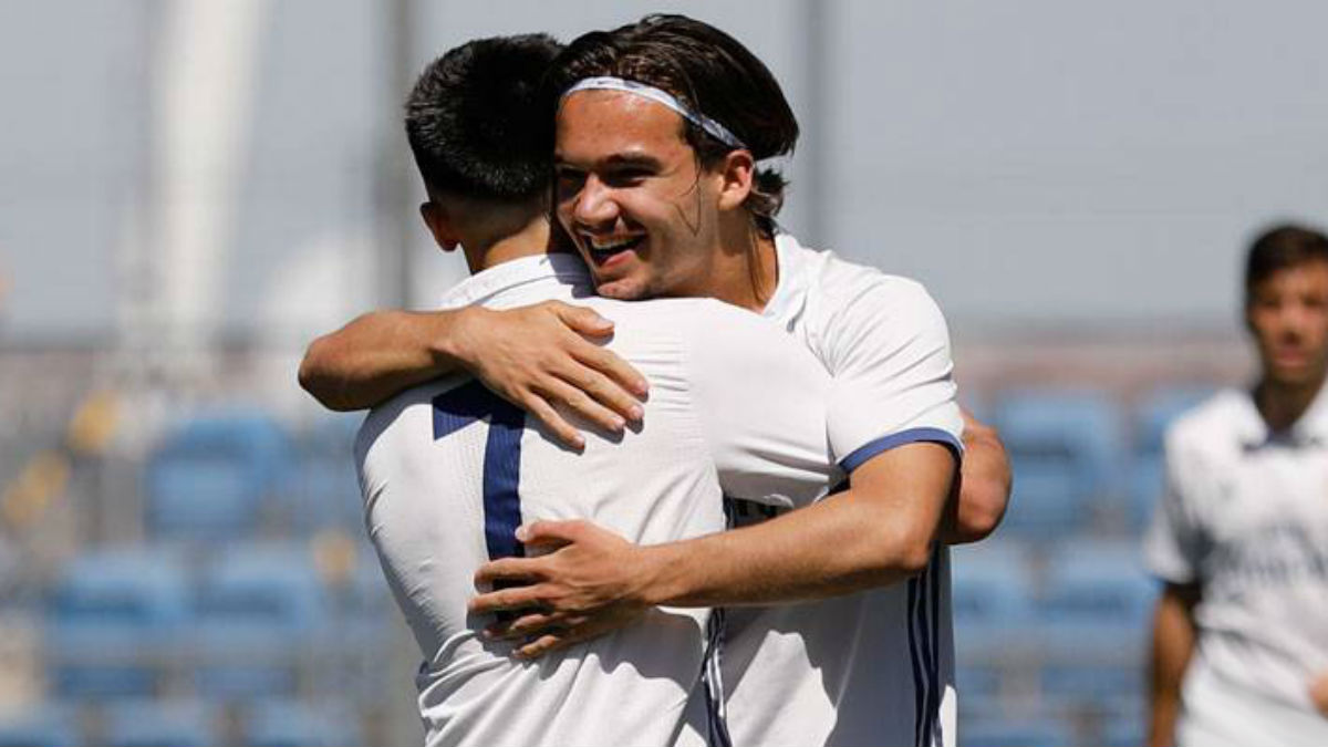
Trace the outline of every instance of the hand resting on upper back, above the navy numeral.
[[475, 306], [458, 316], [457, 334], [457, 355], [475, 377], [572, 448], [584, 437], [556, 404], [615, 433], [641, 419], [645, 379], [587, 339], [614, 334], [594, 310], [558, 300], [506, 311]]

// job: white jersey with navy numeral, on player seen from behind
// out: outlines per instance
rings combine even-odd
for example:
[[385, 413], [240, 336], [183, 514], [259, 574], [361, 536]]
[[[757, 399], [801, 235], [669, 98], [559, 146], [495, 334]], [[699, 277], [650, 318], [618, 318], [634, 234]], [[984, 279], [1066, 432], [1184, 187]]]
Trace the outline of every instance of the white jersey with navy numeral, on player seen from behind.
[[518, 552], [522, 522], [587, 518], [656, 544], [722, 530], [724, 494], [793, 508], [842, 479], [829, 467], [829, 376], [769, 322], [714, 300], [592, 292], [576, 258], [550, 255], [477, 274], [445, 306], [559, 299], [612, 319], [610, 347], [651, 383], [639, 431], [611, 439], [582, 424], [587, 444], [575, 453], [454, 376], [380, 405], [357, 439], [369, 536], [425, 657], [417, 685], [430, 747], [705, 744], [718, 703], [700, 678], [716, 666], [706, 651], [717, 617], [660, 609], [519, 662], [510, 645], [479, 637], [491, 617], [466, 614], [474, 572]]

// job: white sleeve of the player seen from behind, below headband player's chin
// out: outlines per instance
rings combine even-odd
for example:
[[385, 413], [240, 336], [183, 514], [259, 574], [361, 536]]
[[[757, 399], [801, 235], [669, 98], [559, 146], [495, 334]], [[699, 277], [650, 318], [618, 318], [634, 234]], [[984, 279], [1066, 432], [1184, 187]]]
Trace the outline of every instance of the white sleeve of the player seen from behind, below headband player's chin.
[[825, 368], [756, 314], [708, 302], [691, 323], [693, 407], [725, 496], [793, 508], [823, 494], [841, 477]]

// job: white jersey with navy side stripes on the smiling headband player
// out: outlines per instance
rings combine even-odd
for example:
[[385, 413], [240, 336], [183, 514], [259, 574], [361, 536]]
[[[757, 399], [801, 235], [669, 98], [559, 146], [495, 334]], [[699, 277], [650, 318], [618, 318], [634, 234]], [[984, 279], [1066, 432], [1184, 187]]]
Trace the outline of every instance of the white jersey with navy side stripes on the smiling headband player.
[[[886, 449], [960, 451], [944, 318], [918, 283], [776, 238], [765, 316], [834, 383], [830, 445], [846, 471]], [[829, 497], [826, 500], [834, 500]], [[738, 520], [758, 516], [737, 510]], [[950, 553], [906, 582], [819, 602], [728, 610], [728, 722], [738, 746], [955, 744]]]

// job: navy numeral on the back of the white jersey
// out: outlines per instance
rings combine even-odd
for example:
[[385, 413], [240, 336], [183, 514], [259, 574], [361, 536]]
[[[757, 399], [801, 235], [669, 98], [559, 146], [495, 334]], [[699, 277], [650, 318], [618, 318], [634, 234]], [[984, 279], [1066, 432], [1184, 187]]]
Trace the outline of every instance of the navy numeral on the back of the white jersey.
[[433, 397], [433, 439], [445, 439], [475, 423], [489, 420], [485, 441], [485, 545], [489, 558], [523, 557], [517, 541], [521, 526], [521, 432], [526, 413], [470, 381]]

